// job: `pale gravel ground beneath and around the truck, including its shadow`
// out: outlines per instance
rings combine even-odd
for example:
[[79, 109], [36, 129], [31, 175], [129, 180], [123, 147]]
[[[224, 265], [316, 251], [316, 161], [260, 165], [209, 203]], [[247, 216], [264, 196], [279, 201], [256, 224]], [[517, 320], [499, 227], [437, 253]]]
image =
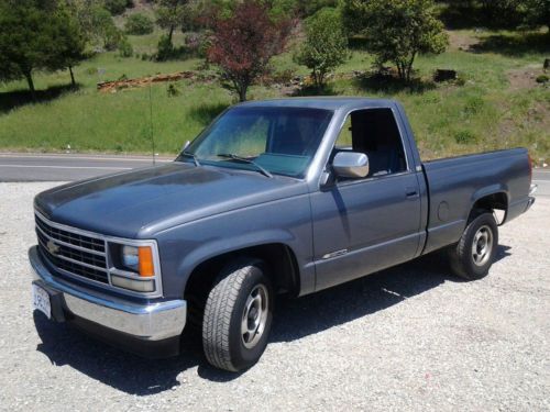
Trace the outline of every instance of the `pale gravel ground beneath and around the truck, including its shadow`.
[[51, 186], [0, 183], [0, 409], [550, 410], [550, 198], [502, 229], [481, 281], [428, 256], [280, 300], [263, 358], [231, 375], [196, 336], [147, 361], [33, 316], [32, 198]]

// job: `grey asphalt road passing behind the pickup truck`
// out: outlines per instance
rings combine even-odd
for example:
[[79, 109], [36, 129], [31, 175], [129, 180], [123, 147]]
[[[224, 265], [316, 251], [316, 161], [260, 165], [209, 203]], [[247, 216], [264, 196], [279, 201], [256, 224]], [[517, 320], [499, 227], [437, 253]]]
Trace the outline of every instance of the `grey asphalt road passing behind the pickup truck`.
[[[156, 157], [155, 163], [170, 162]], [[0, 181], [72, 181], [153, 165], [152, 157], [0, 153]], [[534, 171], [537, 196], [550, 197], [550, 169]]]

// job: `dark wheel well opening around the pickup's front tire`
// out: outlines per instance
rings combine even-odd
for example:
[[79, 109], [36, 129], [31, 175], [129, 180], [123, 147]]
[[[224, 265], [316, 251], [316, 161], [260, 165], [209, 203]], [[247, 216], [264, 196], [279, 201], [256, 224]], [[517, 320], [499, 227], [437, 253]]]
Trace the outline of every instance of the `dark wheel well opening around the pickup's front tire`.
[[231, 260], [239, 257], [258, 258], [266, 263], [278, 293], [297, 296], [300, 289], [299, 269], [294, 252], [280, 243], [246, 247], [212, 257], [198, 265], [187, 280], [184, 299], [188, 303], [188, 316], [191, 324], [200, 325], [202, 311], [219, 272]]

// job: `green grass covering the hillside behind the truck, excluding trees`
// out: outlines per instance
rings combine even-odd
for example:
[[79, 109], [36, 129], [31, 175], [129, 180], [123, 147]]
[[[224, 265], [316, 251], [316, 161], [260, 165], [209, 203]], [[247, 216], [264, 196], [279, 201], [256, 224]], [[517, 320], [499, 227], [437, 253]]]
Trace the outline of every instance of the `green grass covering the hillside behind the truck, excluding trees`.
[[[131, 36], [130, 41], [138, 53], [153, 53], [160, 34], [156, 31], [147, 36]], [[543, 58], [550, 55], [550, 42], [544, 43], [540, 33], [525, 37], [509, 32], [475, 34], [462, 30], [453, 34], [479, 41], [475, 53], [451, 45], [442, 55], [420, 56], [415, 64], [419, 80], [411, 86], [351, 78], [353, 70], [369, 70], [373, 62], [366, 53], [354, 51], [337, 70], [328, 92], [402, 101], [424, 158], [526, 146], [536, 160], [548, 163], [550, 88], [535, 80], [528, 87], [516, 87], [510, 85], [509, 74], [541, 73]], [[183, 44], [183, 35], [177, 36], [178, 44]], [[155, 63], [106, 53], [76, 68], [80, 83], [77, 91], [64, 88], [68, 73], [36, 74], [37, 89], [48, 91], [40, 94], [35, 103], [22, 92], [24, 82], [0, 83], [0, 149], [56, 152], [70, 145], [77, 152], [150, 153], [150, 88], [100, 93], [96, 83], [122, 75], [134, 78], [191, 70], [200, 63]], [[277, 71], [308, 73], [293, 63], [292, 51], [277, 56], [273, 66]], [[437, 68], [458, 70], [461, 82], [433, 83], [431, 74]], [[151, 87], [156, 151], [163, 154], [176, 153], [234, 102], [234, 97], [217, 82], [179, 81], [177, 97], [168, 97], [167, 87]], [[256, 86], [249, 94], [250, 99], [272, 97], [280, 97], [279, 89]]]

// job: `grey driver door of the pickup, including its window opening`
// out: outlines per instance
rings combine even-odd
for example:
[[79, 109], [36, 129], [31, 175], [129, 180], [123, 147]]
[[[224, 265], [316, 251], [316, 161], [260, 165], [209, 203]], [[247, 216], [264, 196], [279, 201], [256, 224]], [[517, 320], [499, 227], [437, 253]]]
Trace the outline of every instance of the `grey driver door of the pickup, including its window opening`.
[[365, 153], [371, 171], [311, 194], [316, 290], [414, 258], [421, 235], [418, 180], [393, 111], [353, 112], [338, 151]]

